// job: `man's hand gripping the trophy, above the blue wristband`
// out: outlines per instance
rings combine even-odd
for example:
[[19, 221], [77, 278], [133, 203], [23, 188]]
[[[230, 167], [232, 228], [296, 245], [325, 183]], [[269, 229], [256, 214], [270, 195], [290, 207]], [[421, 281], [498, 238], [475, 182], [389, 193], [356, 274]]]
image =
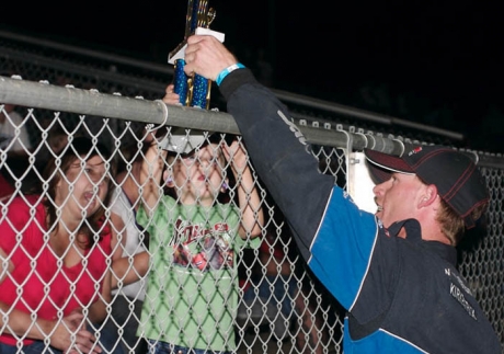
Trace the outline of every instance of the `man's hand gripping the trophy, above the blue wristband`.
[[215, 81], [220, 71], [237, 62], [237, 58], [211, 35], [187, 38], [184, 71], [188, 76], [197, 73]]

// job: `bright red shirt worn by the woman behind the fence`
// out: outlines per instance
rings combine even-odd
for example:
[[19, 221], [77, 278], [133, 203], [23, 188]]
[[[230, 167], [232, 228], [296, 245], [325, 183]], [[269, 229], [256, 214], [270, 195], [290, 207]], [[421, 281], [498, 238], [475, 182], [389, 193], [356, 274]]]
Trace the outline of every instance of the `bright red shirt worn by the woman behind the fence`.
[[[71, 267], [62, 262], [58, 264], [59, 259], [48, 243], [42, 199], [35, 195], [25, 198], [26, 202], [15, 197], [7, 215], [0, 215], [0, 248], [14, 264], [14, 271], [0, 284], [0, 301], [14, 304], [14, 308], [28, 313], [36, 312], [38, 318], [46, 320], [57, 319], [60, 309], [67, 316], [76, 308], [91, 306], [101, 293], [107, 271], [106, 259], [112, 254], [110, 230], [102, 235], [99, 243], [84, 251], [82, 262]], [[99, 289], [95, 289], [96, 283]], [[16, 343], [5, 333], [0, 335], [0, 341]]]

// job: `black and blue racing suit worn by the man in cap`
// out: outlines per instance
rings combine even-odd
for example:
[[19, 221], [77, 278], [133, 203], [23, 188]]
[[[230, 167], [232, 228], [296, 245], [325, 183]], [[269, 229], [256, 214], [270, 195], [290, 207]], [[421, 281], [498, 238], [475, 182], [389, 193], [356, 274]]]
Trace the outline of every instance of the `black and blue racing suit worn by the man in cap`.
[[[502, 354], [456, 269], [457, 251], [424, 241], [416, 220], [383, 228], [319, 172], [287, 109], [249, 69], [220, 84], [252, 163], [309, 267], [347, 310], [344, 353]], [[404, 227], [408, 237], [397, 237]]]

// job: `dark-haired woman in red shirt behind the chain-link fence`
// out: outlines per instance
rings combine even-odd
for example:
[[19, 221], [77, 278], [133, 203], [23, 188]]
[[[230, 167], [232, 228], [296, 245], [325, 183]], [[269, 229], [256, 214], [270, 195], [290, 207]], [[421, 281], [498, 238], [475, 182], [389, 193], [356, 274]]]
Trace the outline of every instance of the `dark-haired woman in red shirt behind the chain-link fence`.
[[19, 342], [24, 353], [112, 350], [88, 324], [105, 318], [111, 300], [107, 159], [100, 144], [76, 138], [47, 164], [47, 194], [16, 196], [2, 209], [0, 353], [18, 353]]

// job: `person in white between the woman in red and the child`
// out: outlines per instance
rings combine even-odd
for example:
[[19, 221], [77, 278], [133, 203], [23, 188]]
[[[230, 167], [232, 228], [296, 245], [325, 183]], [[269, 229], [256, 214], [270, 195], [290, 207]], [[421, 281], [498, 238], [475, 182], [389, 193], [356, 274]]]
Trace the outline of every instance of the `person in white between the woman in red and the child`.
[[[128, 146], [127, 149], [131, 149]], [[147, 252], [147, 233], [136, 222], [136, 213], [140, 205], [140, 172], [144, 162], [144, 155], [138, 153], [131, 157], [131, 161], [124, 170], [119, 171], [116, 178], [111, 212], [122, 218], [125, 225], [124, 230], [118, 230], [122, 236], [123, 253], [121, 259], [113, 263], [112, 302], [113, 320], [107, 321], [107, 328], [122, 338], [122, 345], [125, 353], [147, 353], [147, 342], [137, 336], [138, 323], [140, 322], [141, 307], [146, 296], [145, 275], [149, 267], [149, 254]], [[123, 156], [127, 156], [123, 153]], [[119, 333], [123, 329], [123, 333]]]

